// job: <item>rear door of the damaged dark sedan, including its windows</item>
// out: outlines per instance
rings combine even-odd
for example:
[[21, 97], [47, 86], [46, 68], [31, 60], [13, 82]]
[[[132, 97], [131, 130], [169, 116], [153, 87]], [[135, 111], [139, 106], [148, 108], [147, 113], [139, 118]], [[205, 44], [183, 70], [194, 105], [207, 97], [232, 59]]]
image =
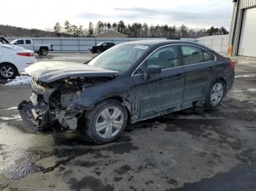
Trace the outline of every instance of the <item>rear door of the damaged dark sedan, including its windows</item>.
[[182, 44], [181, 54], [185, 72], [183, 105], [205, 98], [208, 86], [216, 76], [214, 61], [216, 57], [203, 48], [192, 44]]

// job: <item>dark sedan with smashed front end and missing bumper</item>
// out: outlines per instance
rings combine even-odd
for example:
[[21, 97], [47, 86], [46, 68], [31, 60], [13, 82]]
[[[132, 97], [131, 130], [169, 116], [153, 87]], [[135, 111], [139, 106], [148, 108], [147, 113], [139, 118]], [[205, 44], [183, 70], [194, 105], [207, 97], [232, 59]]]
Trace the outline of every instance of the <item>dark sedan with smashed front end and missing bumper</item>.
[[105, 144], [127, 123], [192, 106], [218, 106], [233, 87], [234, 66], [191, 42], [127, 42], [87, 64], [28, 66], [33, 93], [18, 109], [31, 132], [79, 130], [86, 140]]

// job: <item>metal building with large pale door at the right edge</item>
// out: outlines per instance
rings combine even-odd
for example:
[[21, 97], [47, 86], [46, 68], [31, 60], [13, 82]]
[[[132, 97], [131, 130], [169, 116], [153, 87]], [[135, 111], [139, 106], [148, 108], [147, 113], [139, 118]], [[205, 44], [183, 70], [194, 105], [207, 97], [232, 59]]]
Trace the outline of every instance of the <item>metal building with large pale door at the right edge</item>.
[[233, 0], [230, 55], [256, 57], [256, 0]]

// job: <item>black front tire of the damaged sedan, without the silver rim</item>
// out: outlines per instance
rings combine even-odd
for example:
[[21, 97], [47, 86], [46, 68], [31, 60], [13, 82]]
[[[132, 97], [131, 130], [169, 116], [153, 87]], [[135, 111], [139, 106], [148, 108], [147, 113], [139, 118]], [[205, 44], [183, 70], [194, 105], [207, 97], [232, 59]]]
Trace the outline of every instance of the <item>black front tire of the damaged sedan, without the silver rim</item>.
[[[124, 117], [124, 123], [121, 126], [121, 129], [118, 131], [118, 133], [111, 137], [110, 139], [104, 139], [99, 134], [97, 133], [96, 130], [96, 122], [99, 117], [99, 114], [110, 107], [116, 107], [121, 110], [121, 113], [123, 114]], [[94, 109], [91, 109], [89, 111], [86, 111], [84, 114], [84, 121], [83, 124], [81, 124], [81, 128], [83, 130], [83, 133], [85, 134], [83, 136], [83, 139], [86, 139], [86, 141], [92, 141], [96, 144], [106, 144], [111, 141], [114, 141], [115, 139], [120, 136], [120, 134], [124, 131], [124, 129], [127, 126], [127, 110], [125, 107], [119, 102], [116, 101], [115, 99], [108, 99], [106, 101], [102, 101], [101, 103], [97, 104], [97, 106], [94, 107]]]

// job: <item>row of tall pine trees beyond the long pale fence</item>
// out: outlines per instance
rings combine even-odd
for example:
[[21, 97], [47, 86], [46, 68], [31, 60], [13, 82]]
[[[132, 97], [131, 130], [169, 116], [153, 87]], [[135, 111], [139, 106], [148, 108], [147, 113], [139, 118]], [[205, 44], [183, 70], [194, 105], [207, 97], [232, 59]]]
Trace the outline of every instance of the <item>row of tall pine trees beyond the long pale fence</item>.
[[189, 28], [185, 25], [177, 27], [173, 26], [149, 26], [147, 23], [132, 23], [124, 24], [123, 20], [118, 23], [105, 23], [99, 20], [94, 26], [93, 23], [89, 22], [88, 28], [83, 28], [83, 26], [76, 26], [69, 23], [68, 20], [64, 22], [64, 26], [58, 22], [53, 27], [53, 31], [57, 36], [95, 36], [102, 33], [103, 31], [118, 31], [122, 34], [127, 34], [129, 37], [134, 38], [169, 38], [169, 39], [179, 39], [179, 38], [199, 38], [202, 36], [212, 36], [212, 35], [222, 35], [228, 34], [228, 31], [224, 27], [215, 28]]

